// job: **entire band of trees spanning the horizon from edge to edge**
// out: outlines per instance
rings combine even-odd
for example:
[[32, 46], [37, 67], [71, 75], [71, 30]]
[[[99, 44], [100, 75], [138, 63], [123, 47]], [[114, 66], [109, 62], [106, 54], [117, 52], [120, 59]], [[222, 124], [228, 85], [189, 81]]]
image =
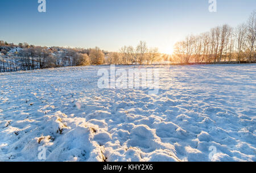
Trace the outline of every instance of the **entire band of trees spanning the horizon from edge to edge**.
[[119, 52], [100, 48], [40, 47], [28, 43], [0, 41], [0, 72], [34, 70], [61, 66], [102, 64], [223, 64], [256, 62], [256, 11], [236, 28], [228, 24], [200, 35], [189, 35], [175, 44], [172, 55], [158, 48], [124, 46]]

